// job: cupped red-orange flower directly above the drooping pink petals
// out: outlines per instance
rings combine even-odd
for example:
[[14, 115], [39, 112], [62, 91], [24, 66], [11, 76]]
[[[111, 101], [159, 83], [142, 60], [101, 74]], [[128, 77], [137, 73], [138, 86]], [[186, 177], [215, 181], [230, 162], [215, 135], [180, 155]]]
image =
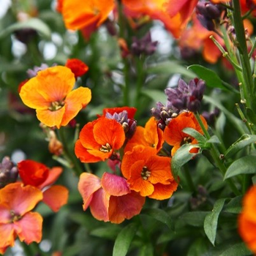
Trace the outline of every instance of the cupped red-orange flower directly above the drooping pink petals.
[[124, 129], [116, 120], [105, 117], [87, 123], [75, 143], [75, 154], [81, 162], [105, 161], [123, 146]]

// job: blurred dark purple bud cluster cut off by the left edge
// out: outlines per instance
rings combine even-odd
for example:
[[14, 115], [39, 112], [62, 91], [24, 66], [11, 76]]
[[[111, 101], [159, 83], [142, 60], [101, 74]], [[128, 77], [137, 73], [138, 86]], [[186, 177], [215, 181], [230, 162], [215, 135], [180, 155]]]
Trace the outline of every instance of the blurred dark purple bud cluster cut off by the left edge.
[[18, 169], [13, 165], [10, 157], [4, 157], [0, 163], [0, 188], [15, 182], [18, 178]]

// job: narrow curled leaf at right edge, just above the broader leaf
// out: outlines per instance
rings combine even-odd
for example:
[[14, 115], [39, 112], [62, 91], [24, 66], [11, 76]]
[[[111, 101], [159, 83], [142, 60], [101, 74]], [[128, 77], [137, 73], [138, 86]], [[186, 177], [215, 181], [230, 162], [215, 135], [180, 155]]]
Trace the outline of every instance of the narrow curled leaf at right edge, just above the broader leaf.
[[241, 138], [236, 140], [236, 142], [233, 143], [229, 148], [227, 148], [227, 151], [225, 152], [225, 157], [226, 158], [231, 157], [233, 156], [233, 154], [236, 154], [241, 149], [255, 142], [256, 142], [256, 135], [244, 134], [241, 136]]

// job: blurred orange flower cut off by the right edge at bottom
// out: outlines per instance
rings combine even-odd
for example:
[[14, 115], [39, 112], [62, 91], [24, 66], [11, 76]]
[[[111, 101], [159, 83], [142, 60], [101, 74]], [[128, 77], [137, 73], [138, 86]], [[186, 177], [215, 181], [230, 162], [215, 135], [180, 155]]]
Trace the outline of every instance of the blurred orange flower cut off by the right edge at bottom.
[[256, 186], [246, 192], [242, 212], [238, 217], [238, 231], [249, 249], [256, 254]]

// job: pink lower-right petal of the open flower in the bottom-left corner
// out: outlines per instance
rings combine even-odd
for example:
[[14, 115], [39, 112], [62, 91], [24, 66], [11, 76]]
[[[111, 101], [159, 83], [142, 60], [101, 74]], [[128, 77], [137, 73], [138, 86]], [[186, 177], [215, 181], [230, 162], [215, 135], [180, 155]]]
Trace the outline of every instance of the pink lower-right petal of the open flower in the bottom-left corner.
[[28, 212], [22, 219], [14, 223], [15, 231], [20, 241], [26, 244], [41, 241], [42, 239], [42, 216], [37, 212]]

